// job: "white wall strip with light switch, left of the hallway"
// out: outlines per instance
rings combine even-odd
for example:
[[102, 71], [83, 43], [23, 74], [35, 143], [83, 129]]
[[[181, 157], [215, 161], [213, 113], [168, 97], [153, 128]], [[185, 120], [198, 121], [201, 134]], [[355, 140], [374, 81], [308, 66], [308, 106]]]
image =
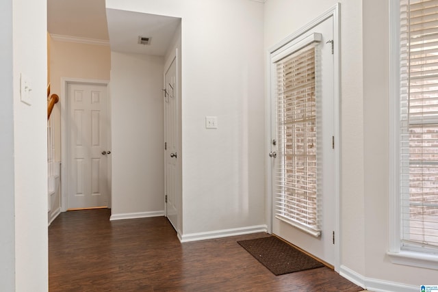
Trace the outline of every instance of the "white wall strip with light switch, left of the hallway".
[[[12, 8], [15, 291], [47, 291], [47, 3], [13, 1]], [[21, 73], [31, 106], [20, 101]]]

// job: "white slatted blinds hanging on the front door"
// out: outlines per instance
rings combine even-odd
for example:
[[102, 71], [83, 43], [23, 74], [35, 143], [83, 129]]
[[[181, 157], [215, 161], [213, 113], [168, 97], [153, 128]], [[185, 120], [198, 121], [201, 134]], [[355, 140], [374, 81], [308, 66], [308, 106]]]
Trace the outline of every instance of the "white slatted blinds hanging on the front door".
[[276, 218], [318, 237], [315, 44], [276, 62]]

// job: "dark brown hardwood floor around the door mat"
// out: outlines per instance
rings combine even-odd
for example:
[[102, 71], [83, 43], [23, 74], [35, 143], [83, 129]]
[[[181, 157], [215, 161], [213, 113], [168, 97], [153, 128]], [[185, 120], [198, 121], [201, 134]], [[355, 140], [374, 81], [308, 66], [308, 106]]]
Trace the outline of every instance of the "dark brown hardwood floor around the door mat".
[[49, 291], [362, 291], [322, 267], [274, 276], [236, 241], [180, 243], [166, 217], [69, 211], [49, 226]]

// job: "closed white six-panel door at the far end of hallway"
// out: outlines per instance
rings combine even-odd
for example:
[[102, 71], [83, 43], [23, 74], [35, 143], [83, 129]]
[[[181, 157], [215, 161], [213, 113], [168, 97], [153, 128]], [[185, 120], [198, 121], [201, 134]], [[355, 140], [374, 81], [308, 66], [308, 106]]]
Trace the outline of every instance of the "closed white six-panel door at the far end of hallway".
[[68, 209], [107, 207], [107, 86], [68, 83]]

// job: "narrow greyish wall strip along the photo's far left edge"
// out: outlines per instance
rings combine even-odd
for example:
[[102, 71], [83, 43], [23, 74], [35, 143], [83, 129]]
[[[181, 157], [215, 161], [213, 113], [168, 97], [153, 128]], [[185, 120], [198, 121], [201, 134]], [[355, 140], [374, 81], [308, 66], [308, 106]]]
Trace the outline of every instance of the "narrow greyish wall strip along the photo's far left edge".
[[14, 87], [12, 83], [12, 0], [0, 2], [0, 282], [15, 289]]

